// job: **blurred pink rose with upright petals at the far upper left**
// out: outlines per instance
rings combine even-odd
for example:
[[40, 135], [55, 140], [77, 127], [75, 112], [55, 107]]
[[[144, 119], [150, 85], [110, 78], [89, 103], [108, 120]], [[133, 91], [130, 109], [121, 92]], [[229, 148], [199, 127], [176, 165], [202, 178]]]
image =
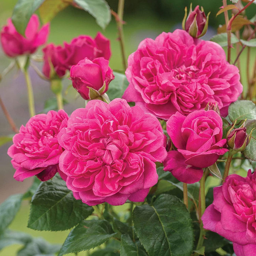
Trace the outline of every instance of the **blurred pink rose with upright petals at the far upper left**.
[[49, 23], [39, 29], [39, 19], [33, 14], [28, 22], [25, 37], [17, 32], [11, 19], [7, 20], [7, 25], [2, 27], [0, 39], [2, 49], [9, 57], [16, 57], [22, 54], [32, 54], [38, 46], [46, 43], [49, 34]]

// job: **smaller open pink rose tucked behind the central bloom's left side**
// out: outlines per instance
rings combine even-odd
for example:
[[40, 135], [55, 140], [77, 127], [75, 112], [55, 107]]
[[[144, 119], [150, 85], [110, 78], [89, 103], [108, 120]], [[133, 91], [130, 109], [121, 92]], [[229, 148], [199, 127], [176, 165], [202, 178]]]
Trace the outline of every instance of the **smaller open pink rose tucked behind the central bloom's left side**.
[[67, 121], [68, 115], [64, 110], [52, 110], [31, 117], [25, 127], [21, 126], [7, 152], [16, 169], [15, 180], [23, 181], [36, 175], [39, 180], [46, 181], [56, 174], [63, 152], [57, 134], [66, 127]]

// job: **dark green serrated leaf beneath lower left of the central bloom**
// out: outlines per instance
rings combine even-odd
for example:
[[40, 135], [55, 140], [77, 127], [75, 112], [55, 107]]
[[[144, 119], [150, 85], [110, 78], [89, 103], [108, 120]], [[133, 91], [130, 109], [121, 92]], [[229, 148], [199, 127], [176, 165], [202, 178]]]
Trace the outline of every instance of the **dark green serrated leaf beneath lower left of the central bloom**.
[[66, 230], [86, 219], [92, 207], [76, 200], [59, 175], [42, 182], [32, 197], [28, 228]]

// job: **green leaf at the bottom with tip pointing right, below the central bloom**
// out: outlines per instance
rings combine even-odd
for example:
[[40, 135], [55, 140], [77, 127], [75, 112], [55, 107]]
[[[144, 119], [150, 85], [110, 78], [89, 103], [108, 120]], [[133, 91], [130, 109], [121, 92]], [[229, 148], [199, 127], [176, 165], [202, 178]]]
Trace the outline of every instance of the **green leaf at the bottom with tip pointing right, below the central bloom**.
[[66, 238], [59, 256], [92, 249], [103, 244], [116, 233], [106, 220], [83, 220]]

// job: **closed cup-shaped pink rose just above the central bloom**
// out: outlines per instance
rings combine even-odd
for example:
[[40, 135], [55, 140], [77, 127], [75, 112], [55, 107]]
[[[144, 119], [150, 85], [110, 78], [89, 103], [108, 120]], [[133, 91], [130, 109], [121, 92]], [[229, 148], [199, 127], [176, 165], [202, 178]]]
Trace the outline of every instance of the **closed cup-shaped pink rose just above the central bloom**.
[[97, 96], [100, 96], [108, 90], [108, 84], [114, 79], [114, 75], [113, 70], [108, 66], [108, 60], [102, 57], [94, 60], [85, 58], [71, 67], [70, 78], [73, 87], [80, 95], [85, 100], [91, 100], [88, 87], [98, 91]]

